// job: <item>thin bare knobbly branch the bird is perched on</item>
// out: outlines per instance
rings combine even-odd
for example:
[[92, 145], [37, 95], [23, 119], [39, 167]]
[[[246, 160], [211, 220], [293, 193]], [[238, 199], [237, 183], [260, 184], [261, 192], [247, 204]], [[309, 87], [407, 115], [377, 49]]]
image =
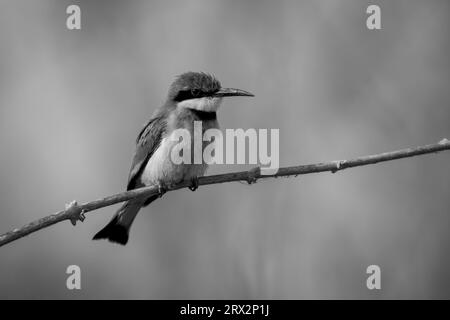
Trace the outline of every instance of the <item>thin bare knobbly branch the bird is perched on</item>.
[[[402, 149], [392, 152], [380, 153], [375, 155], [364, 156], [352, 160], [339, 160], [339, 161], [330, 161], [323, 163], [314, 163], [293, 167], [285, 167], [280, 168], [276, 174], [273, 175], [262, 175], [259, 167], [251, 169], [249, 171], [241, 171], [241, 172], [232, 172], [226, 174], [219, 174], [213, 176], [205, 176], [200, 177], [198, 179], [198, 185], [210, 185], [210, 184], [218, 184], [232, 181], [246, 181], [249, 184], [255, 183], [258, 179], [263, 178], [276, 178], [276, 177], [286, 177], [286, 176], [297, 176], [302, 174], [309, 173], [318, 173], [318, 172], [332, 172], [335, 173], [340, 170], [344, 170], [347, 168], [366, 166], [370, 164], [375, 164], [378, 162], [391, 161], [402, 158], [409, 158], [414, 156], [419, 156], [427, 153], [435, 153], [439, 151], [450, 150], [450, 141], [447, 139], [441, 140], [437, 144], [429, 144], [425, 146], [419, 146], [415, 148]], [[169, 186], [167, 191], [170, 190], [178, 190], [186, 187], [190, 187], [190, 181], [184, 181], [180, 184]], [[108, 207], [113, 204], [128, 201], [138, 197], [150, 197], [152, 195], [159, 194], [159, 189], [157, 186], [149, 186], [144, 188], [139, 188], [135, 190], [130, 190], [122, 193], [118, 193], [103, 199], [94, 200], [91, 202], [87, 202], [81, 205], [78, 205], [76, 201], [73, 201], [69, 205], [66, 205], [66, 209], [59, 211], [50, 216], [44, 217], [42, 219], [36, 220], [27, 224], [19, 229], [14, 229], [10, 232], [7, 232], [3, 235], [0, 235], [0, 247], [22, 238], [30, 233], [36, 232], [40, 229], [49, 227], [53, 224], [64, 220], [70, 220], [73, 225], [75, 225], [76, 221], [84, 220], [84, 214], [89, 211], [97, 210], [100, 208]]]

